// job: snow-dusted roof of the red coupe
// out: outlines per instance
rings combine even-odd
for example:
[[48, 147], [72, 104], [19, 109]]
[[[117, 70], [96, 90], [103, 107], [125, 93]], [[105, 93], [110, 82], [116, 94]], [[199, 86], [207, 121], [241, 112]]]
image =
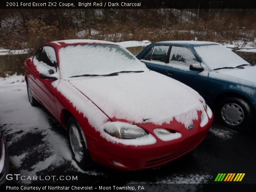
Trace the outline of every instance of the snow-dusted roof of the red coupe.
[[58, 40], [48, 42], [45, 45], [53, 45], [58, 47], [68, 46], [68, 45], [77, 45], [77, 44], [115, 44], [110, 41], [102, 41], [102, 40], [91, 40], [91, 39], [69, 39], [69, 40]]

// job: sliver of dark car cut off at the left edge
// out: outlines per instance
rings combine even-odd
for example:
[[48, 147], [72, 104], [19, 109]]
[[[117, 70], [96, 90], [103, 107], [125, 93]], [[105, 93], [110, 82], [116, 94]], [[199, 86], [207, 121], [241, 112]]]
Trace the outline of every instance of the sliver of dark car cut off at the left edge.
[[4, 138], [0, 138], [1, 149], [0, 149], [0, 185], [6, 181], [6, 174], [9, 169], [8, 153], [6, 150], [6, 143]]

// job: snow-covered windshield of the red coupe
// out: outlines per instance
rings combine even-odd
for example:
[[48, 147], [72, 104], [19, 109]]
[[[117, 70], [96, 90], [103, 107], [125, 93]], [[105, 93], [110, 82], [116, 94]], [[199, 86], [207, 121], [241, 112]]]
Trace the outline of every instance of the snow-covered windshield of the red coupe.
[[144, 63], [125, 48], [113, 44], [79, 44], [60, 49], [62, 78], [120, 71], [146, 71]]

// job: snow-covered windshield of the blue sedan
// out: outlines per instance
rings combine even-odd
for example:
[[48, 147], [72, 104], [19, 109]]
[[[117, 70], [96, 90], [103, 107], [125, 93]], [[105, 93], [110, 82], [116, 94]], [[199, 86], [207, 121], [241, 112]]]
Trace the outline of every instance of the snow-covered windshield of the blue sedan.
[[211, 69], [249, 64], [223, 45], [196, 46], [194, 49]]

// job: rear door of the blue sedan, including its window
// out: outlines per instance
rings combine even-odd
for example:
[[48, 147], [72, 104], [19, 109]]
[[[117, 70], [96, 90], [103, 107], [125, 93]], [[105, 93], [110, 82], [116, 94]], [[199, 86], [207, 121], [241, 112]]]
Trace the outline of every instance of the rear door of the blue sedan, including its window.
[[150, 48], [148, 52], [141, 58], [141, 61], [153, 71], [166, 74], [166, 64], [168, 62], [168, 54], [170, 53], [170, 46], [155, 45]]

